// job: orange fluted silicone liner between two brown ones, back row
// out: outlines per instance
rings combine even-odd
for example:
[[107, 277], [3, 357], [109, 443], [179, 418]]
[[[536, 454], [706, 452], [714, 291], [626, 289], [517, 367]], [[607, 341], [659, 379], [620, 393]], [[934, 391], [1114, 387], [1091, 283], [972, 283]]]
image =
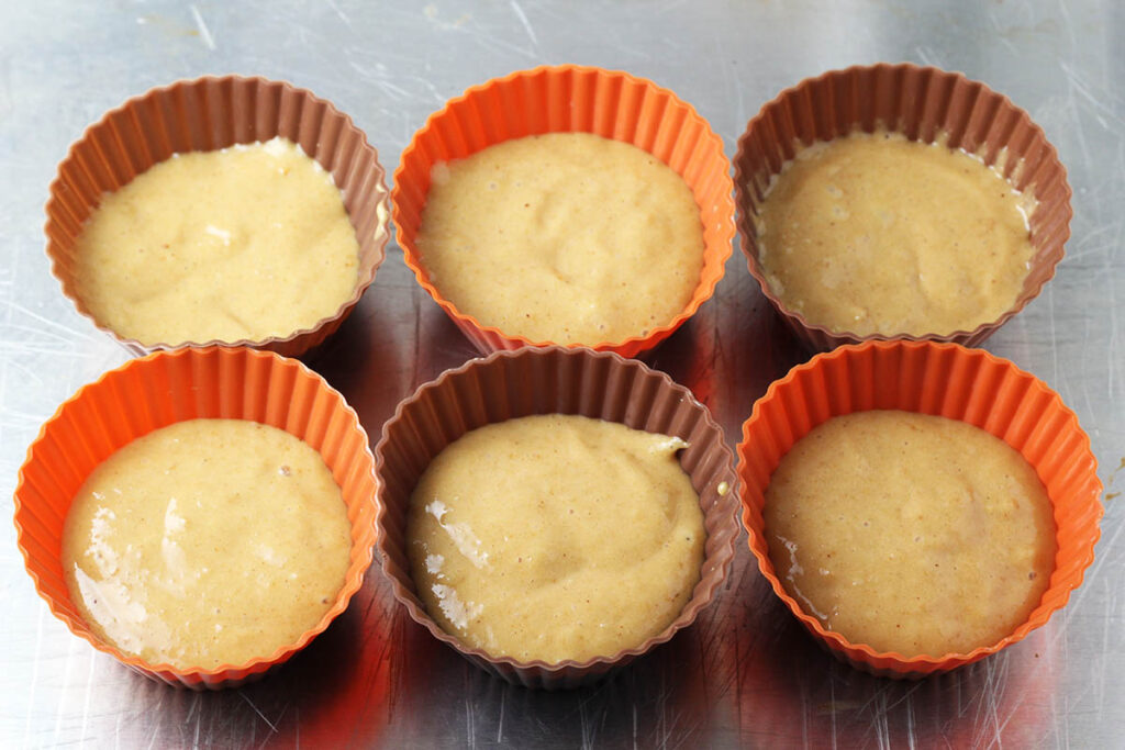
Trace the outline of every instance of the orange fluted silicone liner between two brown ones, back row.
[[450, 100], [414, 134], [395, 171], [392, 216], [406, 264], [483, 353], [550, 344], [505, 334], [458, 310], [430, 282], [416, 244], [434, 164], [544, 133], [593, 133], [644, 148], [684, 178], [700, 207], [703, 269], [683, 311], [644, 336], [583, 342], [598, 351], [636, 356], [672, 335], [714, 293], [735, 236], [730, 162], [722, 139], [691, 105], [651, 81], [598, 67], [544, 66], [494, 79]]

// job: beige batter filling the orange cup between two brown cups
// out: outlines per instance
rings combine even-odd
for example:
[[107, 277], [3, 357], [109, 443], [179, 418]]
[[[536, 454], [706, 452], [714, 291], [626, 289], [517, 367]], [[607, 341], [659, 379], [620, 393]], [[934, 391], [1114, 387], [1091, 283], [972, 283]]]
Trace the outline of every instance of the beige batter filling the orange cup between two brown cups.
[[430, 281], [461, 313], [539, 343], [622, 342], [667, 325], [703, 269], [683, 178], [587, 133], [439, 163], [417, 242]]

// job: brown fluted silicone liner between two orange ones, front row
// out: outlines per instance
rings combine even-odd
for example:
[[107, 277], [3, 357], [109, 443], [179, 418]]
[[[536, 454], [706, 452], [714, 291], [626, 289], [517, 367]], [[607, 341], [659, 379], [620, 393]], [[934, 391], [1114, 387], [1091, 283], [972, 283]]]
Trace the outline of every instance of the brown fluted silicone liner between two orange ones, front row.
[[[700, 495], [708, 540], [701, 578], [680, 616], [637, 648], [587, 661], [549, 665], [490, 657], [446, 633], [426, 614], [405, 550], [406, 508], [426, 467], [471, 430], [533, 414], [578, 414], [690, 443], [681, 466]], [[683, 386], [636, 360], [590, 349], [524, 347], [444, 372], [398, 405], [375, 449], [379, 478], [378, 549], [395, 597], [439, 641], [493, 675], [526, 687], [558, 689], [596, 681], [691, 625], [726, 578], [738, 535], [732, 455], [722, 430]]]

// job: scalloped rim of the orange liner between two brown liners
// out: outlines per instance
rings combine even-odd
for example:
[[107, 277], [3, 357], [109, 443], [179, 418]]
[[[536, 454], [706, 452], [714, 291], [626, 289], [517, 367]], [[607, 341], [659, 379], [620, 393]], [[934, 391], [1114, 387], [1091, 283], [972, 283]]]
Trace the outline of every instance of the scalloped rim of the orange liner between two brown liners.
[[[400, 180], [399, 180], [399, 178], [403, 175], [403, 173], [405, 171], [405, 164], [406, 164], [407, 157], [411, 156], [411, 155], [413, 155], [414, 152], [416, 152], [418, 150], [418, 147], [420, 147], [418, 146], [420, 139], [423, 136], [429, 135], [434, 129], [435, 124], [439, 123], [444, 117], [447, 117], [450, 114], [451, 109], [454, 106], [461, 105], [461, 103], [464, 103], [466, 101], [469, 101], [474, 97], [480, 96], [482, 93], [488, 91], [489, 89], [493, 89], [494, 87], [508, 85], [508, 84], [512, 84], [512, 83], [514, 83], [515, 81], [518, 81], [520, 79], [532, 78], [534, 75], [540, 75], [540, 74], [546, 74], [546, 73], [561, 73], [561, 72], [568, 72], [568, 71], [569, 72], [574, 72], [574, 73], [596, 73], [596, 74], [600, 74], [600, 75], [609, 75], [609, 76], [621, 78], [627, 83], [644, 85], [646, 88], [646, 90], [648, 90], [650, 92], [656, 92], [656, 93], [660, 93], [660, 94], [665, 94], [665, 96], [670, 97], [670, 99], [673, 101], [675, 101], [677, 103], [681, 103], [681, 105], [684, 105], [687, 108], [690, 117], [695, 118], [696, 120], [699, 120], [701, 124], [703, 124], [706, 127], [706, 135], [705, 135], [704, 138], [701, 138], [700, 141], [709, 143], [710, 145], [714, 146], [718, 150], [718, 153], [727, 162], [727, 171], [723, 174], [723, 181], [727, 183], [727, 189], [723, 191], [723, 195], [726, 196], [726, 198], [723, 200], [723, 220], [722, 220], [722, 225], [723, 225], [722, 235], [723, 236], [722, 236], [721, 242], [720, 242], [720, 245], [722, 247], [724, 247], [726, 250], [721, 251], [720, 254], [719, 254], [719, 256], [718, 256], [718, 260], [719, 260], [719, 264], [718, 265], [719, 265], [719, 269], [720, 269], [719, 275], [716, 278], [714, 282], [710, 284], [710, 289], [706, 290], [706, 293], [701, 299], [699, 299], [696, 301], [695, 298], [694, 298], [694, 292], [699, 291], [701, 289], [704, 289], [704, 287], [706, 286], [704, 283], [704, 281], [703, 281], [703, 271], [705, 270], [705, 266], [701, 268], [700, 269], [700, 281], [696, 282], [696, 284], [694, 287], [692, 299], [688, 301], [688, 305], [684, 309], [682, 309], [676, 315], [676, 317], [674, 317], [672, 319], [670, 323], [668, 323], [666, 325], [663, 325], [663, 326], [655, 327], [655, 328], [650, 328], [648, 331], [648, 333], [646, 333], [644, 335], [629, 336], [629, 337], [627, 337], [627, 338], [624, 338], [624, 340], [622, 340], [620, 342], [602, 341], [602, 342], [590, 343], [590, 344], [584, 344], [584, 343], [559, 344], [559, 343], [555, 343], [555, 342], [550, 342], [550, 341], [537, 342], [537, 341], [532, 341], [531, 338], [528, 338], [526, 336], [521, 336], [519, 334], [507, 334], [507, 333], [504, 333], [503, 331], [501, 331], [496, 326], [484, 325], [476, 317], [474, 317], [474, 316], [471, 316], [471, 315], [469, 315], [467, 313], [460, 311], [457, 308], [457, 306], [453, 305], [452, 301], [450, 301], [449, 299], [447, 299], [438, 290], [436, 287], [434, 287], [428, 279], [423, 278], [423, 274], [425, 273], [425, 269], [418, 262], [418, 259], [420, 259], [421, 254], [417, 252], [417, 249], [414, 247], [414, 240], [412, 238], [412, 240], [408, 241], [408, 244], [410, 244], [408, 249], [406, 247], [407, 243], [404, 243], [404, 240], [403, 240], [403, 236], [404, 236], [403, 220], [404, 219], [403, 219], [402, 209], [399, 208], [398, 199], [397, 199], [398, 196], [399, 196], [399, 193], [400, 193], [400, 188], [399, 188]], [[577, 133], [577, 132], [578, 130], [566, 130], [566, 133]], [[507, 138], [507, 141], [511, 141], [511, 139], [512, 138]], [[497, 143], [504, 143], [504, 141], [498, 141]], [[639, 148], [640, 146], [637, 146], [637, 147]], [[475, 152], [475, 153], [479, 153], [479, 152]], [[646, 152], [646, 153], [648, 153], [648, 152]], [[665, 164], [665, 166], [667, 166], [667, 164]], [[684, 179], [683, 175], [680, 175], [680, 177], [681, 177], [681, 179]], [[687, 181], [684, 179], [684, 182], [686, 183]], [[684, 101], [683, 99], [681, 99], [680, 96], [676, 94], [672, 89], [666, 89], [664, 87], [658, 85], [657, 83], [655, 83], [650, 79], [640, 78], [640, 76], [633, 75], [632, 73], [629, 73], [627, 71], [612, 70], [612, 69], [608, 69], [608, 67], [601, 67], [601, 66], [597, 66], [597, 65], [580, 65], [580, 64], [576, 64], [576, 63], [565, 63], [565, 64], [560, 64], [560, 65], [550, 65], [550, 64], [537, 65], [536, 67], [530, 67], [530, 69], [525, 69], [525, 70], [513, 71], [513, 72], [511, 72], [511, 73], [508, 73], [506, 75], [501, 75], [501, 76], [497, 76], [497, 78], [489, 79], [489, 80], [485, 81], [484, 83], [477, 83], [477, 84], [470, 85], [462, 93], [448, 99], [446, 101], [446, 103], [442, 105], [441, 109], [439, 109], [439, 110], [436, 110], [434, 112], [431, 112], [430, 116], [426, 117], [425, 124], [421, 128], [418, 128], [414, 133], [413, 136], [411, 136], [410, 143], [406, 145], [406, 147], [403, 150], [402, 154], [399, 155], [398, 166], [395, 169], [394, 175], [392, 177], [392, 183], [393, 183], [393, 187], [392, 187], [392, 190], [390, 190], [390, 196], [392, 196], [392, 201], [390, 201], [390, 204], [392, 204], [390, 219], [392, 219], [392, 223], [395, 225], [395, 238], [396, 238], [396, 242], [398, 243], [398, 245], [400, 245], [402, 249], [403, 249], [403, 260], [405, 261], [406, 265], [411, 269], [411, 271], [414, 272], [414, 278], [418, 282], [418, 284], [423, 289], [426, 290], [426, 293], [430, 295], [431, 299], [433, 299], [433, 301], [438, 302], [438, 305], [441, 306], [441, 309], [443, 309], [446, 311], [446, 314], [450, 318], [452, 318], [453, 320], [457, 320], [459, 323], [468, 324], [468, 325], [472, 326], [474, 328], [476, 328], [477, 331], [479, 331], [482, 333], [485, 333], [486, 335], [489, 335], [489, 336], [493, 336], [493, 337], [500, 340], [504, 344], [508, 344], [508, 345], [516, 346], [516, 347], [521, 347], [521, 346], [538, 346], [538, 347], [562, 346], [565, 349], [592, 349], [592, 350], [598, 351], [598, 352], [600, 351], [612, 351], [614, 353], [618, 353], [618, 352], [623, 352], [623, 351], [630, 351], [634, 346], [638, 347], [638, 352], [646, 351], [648, 349], [651, 349], [651, 347], [656, 346], [657, 343], [659, 343], [660, 341], [663, 341], [665, 337], [672, 335], [672, 333], [674, 333], [677, 328], [680, 328], [680, 326], [682, 326], [684, 323], [686, 323], [690, 317], [692, 317], [693, 315], [695, 315], [696, 311], [699, 311], [699, 308], [702, 307], [704, 302], [706, 302], [709, 299], [711, 299], [714, 296], [716, 288], [719, 286], [719, 282], [722, 280], [723, 275], [726, 275], [727, 261], [730, 260], [730, 256], [734, 254], [734, 249], [731, 246], [731, 242], [734, 241], [735, 235], [738, 233], [737, 232], [737, 223], [736, 223], [736, 219], [735, 219], [735, 213], [737, 210], [737, 204], [736, 204], [736, 200], [731, 197], [731, 193], [732, 193], [732, 190], [734, 190], [735, 186], [732, 184], [731, 178], [730, 178], [730, 159], [727, 157], [727, 153], [726, 153], [726, 151], [723, 148], [722, 137], [718, 133], [714, 132], [714, 128], [711, 127], [710, 121], [708, 121], [702, 115], [699, 114], [699, 111], [695, 109], [694, 105], [692, 105], [688, 101]], [[426, 190], [426, 195], [429, 195], [429, 189]], [[424, 206], [425, 205], [423, 204], [423, 209], [424, 209]], [[696, 208], [699, 208], [698, 205], [696, 205]], [[702, 209], [700, 209], [699, 215], [700, 215], [699, 216], [700, 217], [700, 223], [701, 223], [701, 226], [702, 226]], [[407, 252], [407, 250], [410, 252]], [[705, 252], [706, 252], [706, 244], [704, 243], [704, 253]], [[704, 260], [705, 260], [705, 257], [704, 257]], [[476, 342], [474, 342], [474, 344]]]

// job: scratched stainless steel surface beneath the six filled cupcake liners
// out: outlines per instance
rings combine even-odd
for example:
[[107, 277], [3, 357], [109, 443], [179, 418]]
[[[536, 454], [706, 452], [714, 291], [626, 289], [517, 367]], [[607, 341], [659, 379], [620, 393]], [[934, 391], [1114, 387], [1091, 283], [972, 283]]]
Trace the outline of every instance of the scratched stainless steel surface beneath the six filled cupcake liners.
[[[822, 7], [829, 6], [829, 7]], [[908, 60], [965, 72], [1026, 108], [1074, 189], [1058, 277], [988, 343], [1056, 388], [1125, 489], [1125, 6], [480, 0], [105, 3], [0, 8], [0, 495], [39, 425], [126, 354], [74, 313], [43, 252], [43, 202], [68, 145], [145, 89], [210, 72], [288, 79], [333, 100], [388, 170], [466, 87], [547, 62], [651, 78], [734, 153], [760, 105], [801, 78]], [[474, 351], [392, 245], [376, 282], [309, 363], [378, 440], [395, 404]], [[649, 361], [690, 386], [731, 444], [774, 378], [804, 359], [737, 252], [716, 298]], [[10, 508], [10, 505], [9, 505]], [[241, 690], [151, 683], [91, 649], [36, 596], [0, 526], [0, 746], [1113, 747], [1125, 737], [1125, 507], [1107, 499], [1097, 560], [1070, 605], [958, 672], [894, 683], [820, 651], [739, 543], [729, 586], [688, 631], [612, 681], [542, 694], [436, 643], [372, 569], [351, 608]]]

